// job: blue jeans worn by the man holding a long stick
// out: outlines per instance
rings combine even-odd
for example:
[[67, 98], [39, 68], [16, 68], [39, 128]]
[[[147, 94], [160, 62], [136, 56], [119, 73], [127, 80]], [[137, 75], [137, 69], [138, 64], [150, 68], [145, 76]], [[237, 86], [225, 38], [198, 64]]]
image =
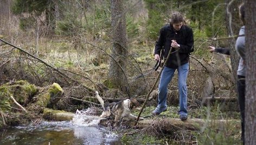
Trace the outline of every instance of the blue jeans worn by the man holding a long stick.
[[[176, 69], [164, 67], [161, 74], [159, 87], [158, 87], [158, 105], [159, 111], [163, 111], [163, 108], [167, 108], [167, 93], [168, 84], [170, 83], [172, 77], [174, 76]], [[178, 92], [180, 96], [180, 110], [179, 114], [188, 115], [187, 110], [187, 77], [189, 71], [189, 63], [182, 64], [177, 68], [178, 70]]]

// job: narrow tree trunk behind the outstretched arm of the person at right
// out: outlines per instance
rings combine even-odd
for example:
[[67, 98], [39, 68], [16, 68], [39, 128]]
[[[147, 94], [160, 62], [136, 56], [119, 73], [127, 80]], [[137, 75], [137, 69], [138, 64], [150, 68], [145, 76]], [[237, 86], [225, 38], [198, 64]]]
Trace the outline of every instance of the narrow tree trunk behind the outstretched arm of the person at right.
[[[239, 19], [239, 11], [238, 6], [242, 2], [241, 0], [233, 1], [233, 0], [225, 0], [227, 3], [226, 9], [226, 21], [227, 21], [227, 30], [228, 36], [234, 36], [239, 34], [239, 30], [241, 27], [241, 21]], [[231, 65], [232, 65], [232, 74], [233, 74], [233, 83], [236, 84], [239, 56], [235, 51], [235, 38], [229, 39], [229, 51], [231, 54]], [[236, 90], [236, 87], [235, 87]]]

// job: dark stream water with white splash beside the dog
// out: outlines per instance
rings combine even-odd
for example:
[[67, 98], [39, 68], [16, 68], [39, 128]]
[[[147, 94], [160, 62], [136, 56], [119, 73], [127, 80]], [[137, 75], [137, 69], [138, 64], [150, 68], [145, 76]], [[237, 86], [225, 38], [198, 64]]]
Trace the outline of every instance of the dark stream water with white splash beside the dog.
[[36, 126], [17, 126], [0, 131], [0, 144], [121, 144], [120, 136], [76, 111], [72, 121], [47, 122]]

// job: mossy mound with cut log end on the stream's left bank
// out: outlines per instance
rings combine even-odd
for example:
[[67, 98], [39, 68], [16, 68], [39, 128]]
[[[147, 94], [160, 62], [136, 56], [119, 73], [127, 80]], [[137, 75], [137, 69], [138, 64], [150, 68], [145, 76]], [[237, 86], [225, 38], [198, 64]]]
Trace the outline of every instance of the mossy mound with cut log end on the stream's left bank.
[[[54, 107], [62, 94], [63, 89], [57, 83], [40, 88], [27, 81], [9, 82], [0, 86], [0, 109], [6, 115], [8, 126], [26, 124], [40, 117], [48, 106]], [[18, 109], [11, 96], [26, 111]], [[3, 127], [4, 123], [0, 118], [0, 129]]]

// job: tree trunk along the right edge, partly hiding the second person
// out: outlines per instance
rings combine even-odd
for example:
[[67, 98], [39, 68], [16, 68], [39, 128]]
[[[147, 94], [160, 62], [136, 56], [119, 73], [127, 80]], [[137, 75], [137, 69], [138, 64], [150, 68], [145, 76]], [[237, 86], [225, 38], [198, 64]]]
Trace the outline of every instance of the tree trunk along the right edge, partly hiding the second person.
[[245, 96], [245, 144], [256, 144], [256, 2], [245, 1], [246, 13], [246, 96]]

